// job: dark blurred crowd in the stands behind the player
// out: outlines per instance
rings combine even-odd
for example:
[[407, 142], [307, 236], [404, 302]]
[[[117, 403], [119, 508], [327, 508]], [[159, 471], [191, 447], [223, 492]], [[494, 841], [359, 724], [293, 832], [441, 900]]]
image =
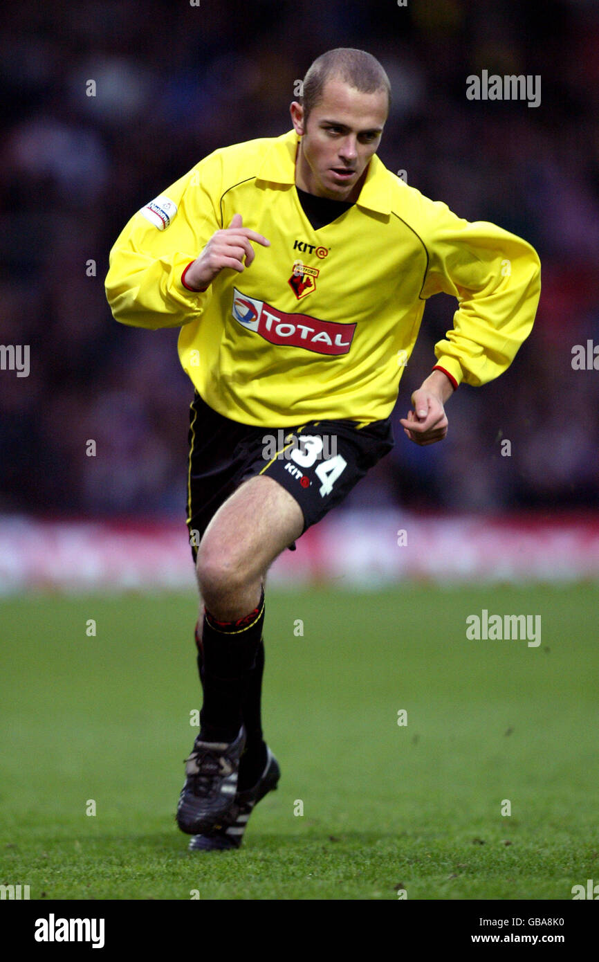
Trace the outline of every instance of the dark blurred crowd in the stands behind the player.
[[[112, 320], [109, 251], [212, 150], [290, 129], [295, 82], [337, 46], [387, 69], [383, 162], [531, 241], [542, 264], [534, 333], [510, 370], [460, 388], [444, 443], [419, 448], [397, 423], [347, 505], [597, 506], [599, 371], [571, 360], [599, 343], [599, 3], [61, 0], [4, 5], [0, 20], [0, 342], [31, 349], [29, 377], [0, 371], [0, 512], [183, 516], [192, 389], [177, 332]], [[468, 100], [483, 69], [540, 75], [540, 106]], [[429, 301], [396, 419], [455, 307]]]

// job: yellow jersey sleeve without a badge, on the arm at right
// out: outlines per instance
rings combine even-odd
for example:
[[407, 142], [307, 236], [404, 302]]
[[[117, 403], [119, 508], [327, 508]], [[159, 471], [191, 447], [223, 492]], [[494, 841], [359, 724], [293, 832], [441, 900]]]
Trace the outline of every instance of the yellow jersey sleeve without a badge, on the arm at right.
[[446, 204], [431, 203], [436, 210], [422, 296], [444, 291], [459, 302], [453, 329], [435, 345], [435, 367], [454, 387], [462, 381], [478, 387], [510, 367], [531, 332], [540, 262], [535, 248], [509, 231], [463, 220]]

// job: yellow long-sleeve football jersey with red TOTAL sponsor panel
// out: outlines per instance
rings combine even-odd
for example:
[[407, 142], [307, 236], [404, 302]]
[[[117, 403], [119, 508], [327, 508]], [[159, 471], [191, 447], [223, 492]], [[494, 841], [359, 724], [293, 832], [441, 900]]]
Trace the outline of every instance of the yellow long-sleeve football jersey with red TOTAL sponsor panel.
[[[181, 364], [204, 400], [245, 424], [387, 418], [426, 299], [459, 302], [437, 342], [457, 387], [512, 363], [540, 291], [535, 249], [487, 221], [429, 200], [374, 155], [357, 202], [314, 230], [295, 190], [298, 135], [214, 151], [132, 217], [111, 251], [106, 292], [116, 320], [181, 327]], [[234, 214], [262, 234], [241, 273], [205, 292], [185, 269]]]

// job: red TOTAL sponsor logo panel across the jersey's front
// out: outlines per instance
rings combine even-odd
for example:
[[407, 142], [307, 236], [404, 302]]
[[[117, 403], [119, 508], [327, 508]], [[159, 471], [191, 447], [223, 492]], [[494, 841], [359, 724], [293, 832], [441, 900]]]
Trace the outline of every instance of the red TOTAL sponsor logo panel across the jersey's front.
[[320, 320], [307, 314], [287, 314], [234, 288], [232, 314], [247, 331], [271, 344], [303, 347], [315, 354], [348, 354], [356, 324]]

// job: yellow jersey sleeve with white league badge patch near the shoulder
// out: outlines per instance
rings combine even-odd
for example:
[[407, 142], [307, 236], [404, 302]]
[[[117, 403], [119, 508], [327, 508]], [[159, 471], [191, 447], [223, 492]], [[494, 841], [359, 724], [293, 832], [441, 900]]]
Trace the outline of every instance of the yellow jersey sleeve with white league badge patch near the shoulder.
[[211, 297], [191, 291], [187, 266], [220, 229], [220, 165], [211, 155], [133, 215], [115, 241], [105, 289], [122, 324], [181, 327], [204, 313]]

